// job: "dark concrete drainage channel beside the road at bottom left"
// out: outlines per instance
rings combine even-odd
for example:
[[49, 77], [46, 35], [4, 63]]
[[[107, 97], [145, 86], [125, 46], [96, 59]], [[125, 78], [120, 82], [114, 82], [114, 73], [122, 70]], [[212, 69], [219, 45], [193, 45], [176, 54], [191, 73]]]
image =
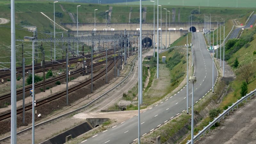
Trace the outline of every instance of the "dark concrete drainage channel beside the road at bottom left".
[[108, 121], [109, 118], [87, 118], [86, 122], [83, 124], [79, 124], [74, 128], [71, 128], [65, 132], [60, 133], [57, 136], [54, 136], [48, 140], [40, 144], [63, 144], [72, 138], [76, 138], [77, 136], [92, 130], [93, 128], [103, 124]]

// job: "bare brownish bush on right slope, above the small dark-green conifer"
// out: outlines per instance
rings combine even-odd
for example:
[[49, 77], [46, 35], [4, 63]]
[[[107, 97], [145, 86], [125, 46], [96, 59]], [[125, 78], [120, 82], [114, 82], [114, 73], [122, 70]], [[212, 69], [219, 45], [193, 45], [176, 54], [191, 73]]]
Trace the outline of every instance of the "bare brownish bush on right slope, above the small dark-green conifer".
[[239, 74], [242, 80], [245, 80], [246, 84], [249, 83], [250, 78], [253, 75], [253, 64], [252, 62], [245, 60], [242, 64], [240, 64]]

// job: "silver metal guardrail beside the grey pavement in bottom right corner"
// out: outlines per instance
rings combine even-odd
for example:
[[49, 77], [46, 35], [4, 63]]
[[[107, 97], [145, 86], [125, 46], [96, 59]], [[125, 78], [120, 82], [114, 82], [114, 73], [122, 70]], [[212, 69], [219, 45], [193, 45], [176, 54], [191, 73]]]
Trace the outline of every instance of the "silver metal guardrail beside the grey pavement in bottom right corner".
[[[223, 113], [222, 114], [219, 114], [219, 116], [217, 118], [214, 118], [214, 120], [212, 122], [210, 122], [206, 127], [204, 127], [204, 129], [202, 131], [199, 131], [195, 136], [194, 136], [194, 141], [199, 139], [201, 135], [204, 135], [204, 133], [208, 130], [210, 130], [210, 128], [217, 122], [220, 122], [220, 119], [223, 118], [224, 119], [224, 116], [225, 115], [229, 115], [229, 112], [232, 110], [234, 111], [234, 108], [237, 107], [238, 108], [238, 105], [240, 103], [242, 103], [243, 101], [247, 101], [247, 99], [252, 96], [255, 96], [256, 97], [256, 89], [252, 92], [250, 92], [249, 94], [247, 94], [246, 96], [242, 97], [240, 100], [237, 100], [236, 103], [233, 103], [232, 106], [228, 107], [228, 109], [226, 110], [223, 110]], [[189, 140], [187, 142], [187, 144], [189, 144], [191, 142], [191, 140]]]

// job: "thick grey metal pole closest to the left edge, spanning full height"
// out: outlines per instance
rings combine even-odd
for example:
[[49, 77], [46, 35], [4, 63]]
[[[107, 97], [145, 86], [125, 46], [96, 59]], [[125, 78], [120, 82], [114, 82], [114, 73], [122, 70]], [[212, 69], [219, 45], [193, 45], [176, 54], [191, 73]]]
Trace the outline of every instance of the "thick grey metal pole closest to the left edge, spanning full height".
[[11, 144], [17, 143], [17, 99], [16, 99], [16, 49], [15, 49], [15, 7], [11, 0]]

